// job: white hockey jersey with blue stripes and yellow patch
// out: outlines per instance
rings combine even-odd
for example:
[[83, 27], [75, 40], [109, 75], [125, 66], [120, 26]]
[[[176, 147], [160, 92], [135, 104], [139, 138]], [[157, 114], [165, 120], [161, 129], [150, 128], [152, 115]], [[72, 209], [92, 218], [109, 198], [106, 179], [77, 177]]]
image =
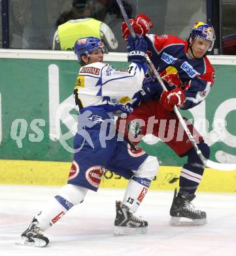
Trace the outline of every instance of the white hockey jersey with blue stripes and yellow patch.
[[80, 68], [75, 83], [75, 102], [82, 110], [100, 106], [105, 112], [114, 112], [142, 89], [145, 64], [131, 63], [127, 71], [115, 70], [107, 63], [96, 62]]

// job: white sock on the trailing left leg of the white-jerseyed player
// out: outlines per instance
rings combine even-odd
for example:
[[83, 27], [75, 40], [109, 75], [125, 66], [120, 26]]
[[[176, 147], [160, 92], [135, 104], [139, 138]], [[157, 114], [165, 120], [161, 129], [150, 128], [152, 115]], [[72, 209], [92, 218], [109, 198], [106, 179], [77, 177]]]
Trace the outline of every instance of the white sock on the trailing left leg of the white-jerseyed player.
[[86, 196], [88, 189], [73, 184], [67, 184], [59, 190], [57, 196], [51, 198], [44, 209], [35, 218], [39, 222], [39, 227], [45, 231], [54, 223], [59, 221], [71, 207], [81, 203]]

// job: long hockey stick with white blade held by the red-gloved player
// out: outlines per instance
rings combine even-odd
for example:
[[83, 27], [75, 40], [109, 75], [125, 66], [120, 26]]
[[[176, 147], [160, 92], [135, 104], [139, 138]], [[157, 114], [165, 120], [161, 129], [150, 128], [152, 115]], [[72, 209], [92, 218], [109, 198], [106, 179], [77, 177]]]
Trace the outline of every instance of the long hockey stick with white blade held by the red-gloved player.
[[[132, 26], [129, 22], [129, 18], [127, 16], [126, 10], [124, 9], [122, 0], [116, 0], [116, 2], [117, 2], [118, 6], [120, 8], [120, 12], [122, 13], [124, 21], [126, 22], [126, 25], [129, 28], [129, 32], [131, 33], [132, 37], [135, 38], [136, 34], [133, 31], [133, 28], [132, 28]], [[154, 73], [156, 79], [158, 79], [158, 82], [160, 83], [163, 90], [167, 91], [167, 89], [165, 87], [165, 84], [163, 83], [159, 73], [157, 72], [154, 64], [152, 64], [152, 61], [150, 60], [150, 58], [147, 55], [146, 55], [146, 62], [147, 62], [149, 70], [151, 70]], [[195, 142], [195, 139], [194, 139], [192, 133], [190, 133], [190, 130], [188, 129], [188, 126], [186, 125], [183, 117], [181, 116], [177, 106], [174, 106], [174, 110], [175, 110], [175, 114], [177, 115], [182, 127], [184, 128], [184, 131], [186, 132], [186, 134], [188, 136], [188, 139], [190, 140], [190, 142], [194, 146], [194, 149], [197, 152], [197, 155], [199, 156], [200, 160], [202, 161], [202, 163], [204, 165], [206, 165], [207, 167], [210, 167], [212, 169], [218, 169], [220, 171], [233, 171], [233, 170], [236, 169], [236, 164], [235, 163], [216, 163], [214, 161], [211, 161], [211, 160], [205, 158], [205, 156], [203, 156], [203, 153], [201, 152], [201, 150], [197, 146], [197, 142]]]

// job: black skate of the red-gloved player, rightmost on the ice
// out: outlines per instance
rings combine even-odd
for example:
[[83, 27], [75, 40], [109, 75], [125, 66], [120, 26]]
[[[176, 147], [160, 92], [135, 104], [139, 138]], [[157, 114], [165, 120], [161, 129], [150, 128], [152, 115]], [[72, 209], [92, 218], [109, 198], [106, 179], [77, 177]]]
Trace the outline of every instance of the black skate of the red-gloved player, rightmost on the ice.
[[[194, 205], [191, 203], [194, 198], [194, 194], [189, 194], [188, 196], [178, 194], [177, 196], [177, 189], [175, 189], [174, 199], [170, 210], [170, 215], [172, 217], [169, 221], [172, 226], [203, 225], [207, 223], [207, 214], [205, 211], [194, 209]], [[180, 221], [183, 217], [186, 218], [186, 221]]]

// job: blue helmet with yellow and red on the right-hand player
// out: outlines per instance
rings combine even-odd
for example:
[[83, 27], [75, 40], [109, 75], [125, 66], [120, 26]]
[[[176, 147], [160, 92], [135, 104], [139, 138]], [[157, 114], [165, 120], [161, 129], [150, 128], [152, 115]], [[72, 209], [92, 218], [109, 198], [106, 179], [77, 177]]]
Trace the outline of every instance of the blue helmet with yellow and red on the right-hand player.
[[207, 51], [211, 51], [214, 46], [214, 41], [216, 40], [216, 35], [214, 33], [214, 28], [205, 24], [203, 22], [196, 22], [194, 24], [194, 28], [191, 29], [190, 36], [188, 41], [192, 43], [192, 41], [196, 38], [207, 39], [211, 42], [211, 45]]

